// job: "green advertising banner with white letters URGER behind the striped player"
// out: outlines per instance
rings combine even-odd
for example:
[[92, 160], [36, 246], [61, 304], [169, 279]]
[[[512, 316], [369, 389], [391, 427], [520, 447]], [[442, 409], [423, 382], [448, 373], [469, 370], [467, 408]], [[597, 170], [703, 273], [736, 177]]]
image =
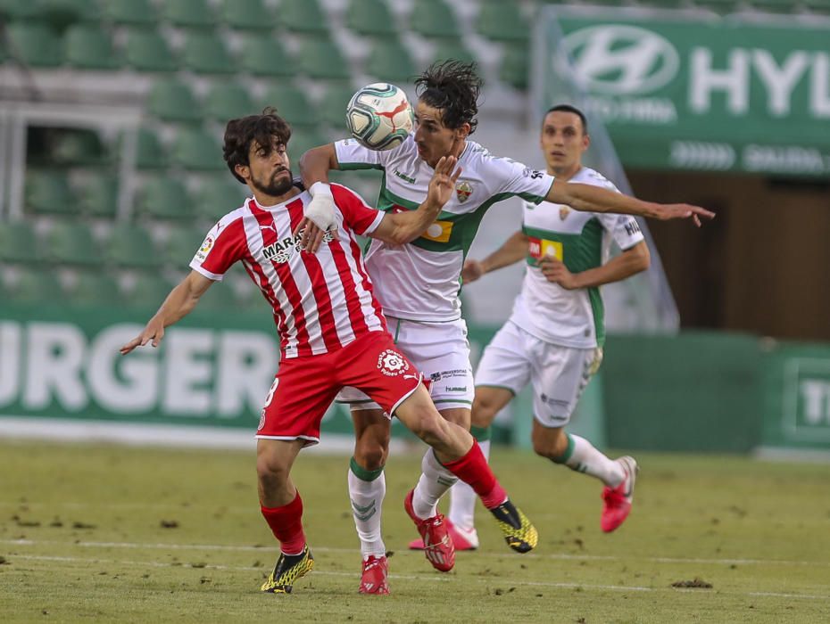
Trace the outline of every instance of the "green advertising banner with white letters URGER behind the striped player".
[[[120, 346], [153, 313], [4, 303], [0, 421], [199, 426], [250, 432], [253, 439], [278, 369], [272, 317], [198, 309], [170, 327], [158, 349], [122, 357]], [[493, 333], [470, 331], [474, 361]], [[322, 434], [353, 436], [346, 406], [328, 409]], [[395, 419], [393, 435], [415, 439]], [[509, 438], [509, 424], [497, 427], [494, 439]]]

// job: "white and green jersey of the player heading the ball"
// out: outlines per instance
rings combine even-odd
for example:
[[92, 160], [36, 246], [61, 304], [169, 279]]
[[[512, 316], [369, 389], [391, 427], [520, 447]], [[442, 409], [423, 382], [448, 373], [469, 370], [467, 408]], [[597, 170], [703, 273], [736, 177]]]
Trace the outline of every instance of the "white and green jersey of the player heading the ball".
[[[385, 152], [354, 139], [337, 141], [335, 148], [341, 169], [383, 169], [378, 209], [417, 209], [427, 198], [435, 170], [419, 157], [413, 135]], [[460, 318], [461, 267], [487, 209], [513, 195], [538, 203], [553, 184], [547, 173], [497, 158], [473, 141], [467, 141], [458, 165], [462, 171], [455, 193], [424, 234], [399, 246], [377, 240], [369, 244], [366, 267], [390, 316], [425, 322]]]

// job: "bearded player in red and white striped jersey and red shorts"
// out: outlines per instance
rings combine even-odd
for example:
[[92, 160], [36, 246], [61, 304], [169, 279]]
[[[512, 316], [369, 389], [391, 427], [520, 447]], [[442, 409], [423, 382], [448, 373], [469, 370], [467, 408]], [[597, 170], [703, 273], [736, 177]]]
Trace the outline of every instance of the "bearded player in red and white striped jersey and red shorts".
[[[510, 503], [469, 432], [441, 417], [421, 375], [395, 347], [355, 240], [355, 234], [366, 234], [403, 244], [422, 234], [454, 192], [461, 173], [456, 159], [436, 165], [426, 200], [402, 214], [371, 209], [357, 194], [333, 185], [334, 223], [317, 224], [328, 232], [314, 253], [300, 244], [303, 228], [316, 221], [308, 209], [311, 195], [292, 182], [290, 136], [290, 127], [272, 110], [228, 122], [224, 157], [253, 198], [213, 226], [190, 263], [191, 273], [121, 353], [148, 343], [157, 347], [164, 328], [195, 308], [237, 261], [268, 300], [282, 361], [256, 434], [257, 474], [261, 512], [281, 554], [263, 591], [290, 592], [295, 579], [313, 567], [302, 500], [289, 475], [300, 450], [319, 441], [320, 421], [344, 386], [369, 394], [431, 445], [493, 511], [510, 546], [527, 552], [536, 545], [535, 528]], [[364, 562], [364, 593], [388, 593], [383, 559]]]

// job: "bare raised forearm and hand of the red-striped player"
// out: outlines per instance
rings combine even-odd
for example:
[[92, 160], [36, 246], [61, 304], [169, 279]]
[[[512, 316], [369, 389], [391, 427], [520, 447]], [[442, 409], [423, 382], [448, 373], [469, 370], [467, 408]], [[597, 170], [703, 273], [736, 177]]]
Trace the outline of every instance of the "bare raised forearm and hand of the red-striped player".
[[427, 199], [415, 210], [406, 212], [387, 212], [380, 225], [369, 234], [372, 238], [394, 245], [403, 245], [414, 241], [427, 231], [441, 213], [447, 201], [455, 191], [455, 183], [461, 176], [461, 168], [456, 168], [455, 156], [444, 156], [436, 164], [436, 172], [429, 181]]

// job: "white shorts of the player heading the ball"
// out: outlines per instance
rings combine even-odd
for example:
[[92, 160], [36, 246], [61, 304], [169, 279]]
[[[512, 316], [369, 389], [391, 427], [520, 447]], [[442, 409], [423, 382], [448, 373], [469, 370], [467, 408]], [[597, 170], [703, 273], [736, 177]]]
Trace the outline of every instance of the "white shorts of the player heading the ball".
[[[467, 323], [460, 318], [444, 323], [405, 321], [386, 316], [386, 327], [395, 345], [424, 375], [429, 394], [439, 410], [473, 405], [473, 369], [469, 364]], [[380, 409], [361, 390], [340, 390], [336, 401], [348, 403], [352, 411]]]

